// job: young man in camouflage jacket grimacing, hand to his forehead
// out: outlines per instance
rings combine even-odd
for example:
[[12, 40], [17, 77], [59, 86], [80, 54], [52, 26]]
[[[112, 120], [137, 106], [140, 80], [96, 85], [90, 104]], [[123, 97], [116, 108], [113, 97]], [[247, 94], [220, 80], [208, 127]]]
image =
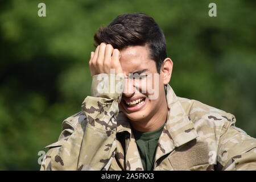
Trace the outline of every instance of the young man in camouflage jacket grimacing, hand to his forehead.
[[119, 15], [94, 40], [92, 96], [65, 119], [42, 170], [256, 169], [256, 139], [234, 115], [168, 85], [172, 60], [154, 19]]

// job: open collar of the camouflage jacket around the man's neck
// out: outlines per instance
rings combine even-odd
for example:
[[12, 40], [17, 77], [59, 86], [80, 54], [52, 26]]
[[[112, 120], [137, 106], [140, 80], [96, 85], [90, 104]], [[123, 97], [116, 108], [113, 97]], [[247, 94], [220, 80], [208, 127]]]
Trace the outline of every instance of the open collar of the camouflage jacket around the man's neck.
[[[174, 141], [176, 147], [179, 147], [184, 143], [195, 139], [198, 135], [193, 123], [185, 113], [183, 106], [179, 101], [179, 97], [176, 96], [169, 84], [167, 85], [166, 99], [169, 111], [166, 126], [164, 127], [164, 133], [170, 140]], [[117, 116], [117, 133], [122, 131], [128, 131], [131, 134], [129, 119], [122, 113], [122, 111], [120, 111]], [[162, 135], [160, 139], [161, 138]]]

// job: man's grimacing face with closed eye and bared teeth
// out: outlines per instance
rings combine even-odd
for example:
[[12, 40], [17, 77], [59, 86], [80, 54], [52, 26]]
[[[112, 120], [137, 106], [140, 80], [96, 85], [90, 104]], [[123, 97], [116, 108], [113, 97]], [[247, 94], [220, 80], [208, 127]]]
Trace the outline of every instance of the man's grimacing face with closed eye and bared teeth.
[[[119, 107], [131, 121], [147, 121], [166, 102], [163, 74], [158, 74], [147, 46], [130, 46], [120, 52], [126, 78]], [[135, 73], [135, 78], [129, 77], [129, 73]], [[137, 77], [136, 73], [142, 77]]]

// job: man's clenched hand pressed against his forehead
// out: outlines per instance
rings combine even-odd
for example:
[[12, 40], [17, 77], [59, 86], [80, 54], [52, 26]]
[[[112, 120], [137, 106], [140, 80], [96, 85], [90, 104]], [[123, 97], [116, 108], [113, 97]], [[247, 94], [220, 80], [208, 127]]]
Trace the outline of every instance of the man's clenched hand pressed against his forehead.
[[109, 74], [110, 69], [114, 69], [116, 75], [123, 73], [119, 61], [120, 57], [121, 54], [118, 49], [114, 49], [111, 44], [101, 43], [95, 52], [90, 53], [90, 75]]

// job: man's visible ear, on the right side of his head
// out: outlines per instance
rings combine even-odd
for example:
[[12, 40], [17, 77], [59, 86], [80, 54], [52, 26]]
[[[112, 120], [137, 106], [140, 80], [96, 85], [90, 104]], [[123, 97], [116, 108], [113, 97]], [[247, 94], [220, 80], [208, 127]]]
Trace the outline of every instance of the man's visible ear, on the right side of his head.
[[168, 84], [171, 80], [172, 65], [172, 60], [169, 57], [167, 57], [162, 63], [160, 74], [162, 74], [164, 85]]

